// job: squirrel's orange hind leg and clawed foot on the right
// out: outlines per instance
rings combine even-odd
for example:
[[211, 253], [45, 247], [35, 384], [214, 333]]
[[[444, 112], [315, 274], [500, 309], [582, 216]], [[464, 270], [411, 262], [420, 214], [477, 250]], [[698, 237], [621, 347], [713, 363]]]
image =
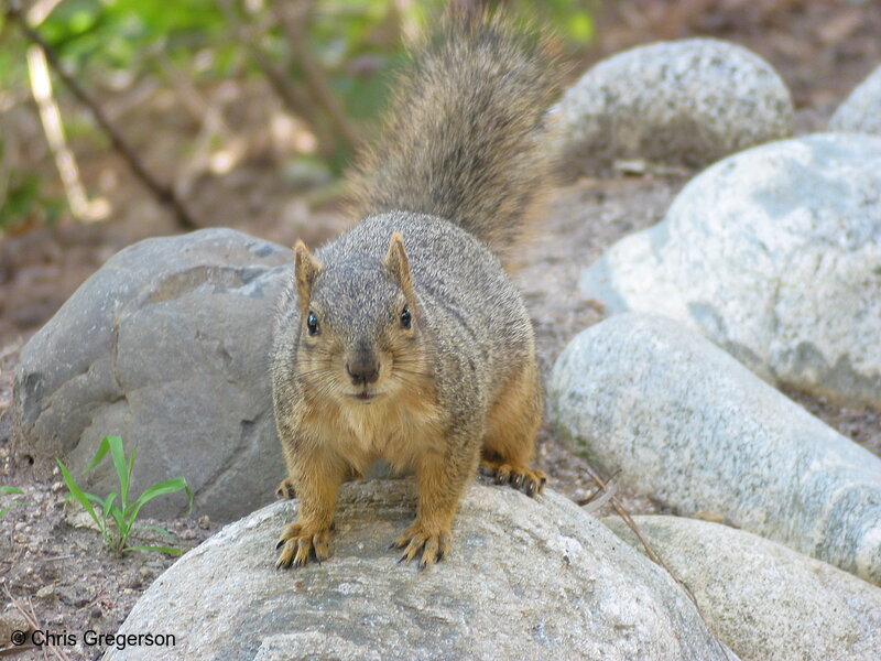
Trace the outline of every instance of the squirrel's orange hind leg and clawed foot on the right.
[[510, 484], [529, 496], [541, 494], [547, 476], [529, 466], [541, 425], [542, 383], [531, 357], [509, 379], [487, 415], [481, 472], [493, 476], [496, 484]]

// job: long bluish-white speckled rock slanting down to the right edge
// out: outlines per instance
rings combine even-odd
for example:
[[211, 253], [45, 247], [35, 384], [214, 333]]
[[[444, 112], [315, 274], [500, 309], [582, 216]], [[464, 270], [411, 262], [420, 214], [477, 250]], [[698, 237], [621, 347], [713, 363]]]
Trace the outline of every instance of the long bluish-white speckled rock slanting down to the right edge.
[[580, 333], [548, 414], [638, 494], [881, 584], [881, 459], [681, 324], [630, 313]]

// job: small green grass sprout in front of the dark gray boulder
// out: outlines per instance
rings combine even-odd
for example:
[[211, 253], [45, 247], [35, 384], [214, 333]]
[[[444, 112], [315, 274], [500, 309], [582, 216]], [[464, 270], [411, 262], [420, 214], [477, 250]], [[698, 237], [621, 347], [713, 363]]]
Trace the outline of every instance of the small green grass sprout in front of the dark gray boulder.
[[[186, 490], [187, 511], [192, 509], [193, 490], [189, 488], [189, 485], [186, 484], [183, 477], [166, 479], [149, 487], [134, 501], [130, 502], [129, 487], [134, 469], [134, 449], [132, 449], [131, 454], [127, 457], [126, 451], [122, 447], [121, 437], [105, 436], [101, 438], [98, 452], [95, 454], [95, 458], [91, 459], [89, 465], [86, 466], [84, 474], [95, 468], [101, 459], [104, 459], [108, 451], [113, 459], [113, 468], [119, 477], [119, 491], [112, 491], [104, 499], [94, 494], [86, 494], [73, 478], [67, 467], [59, 459], [56, 459], [62, 470], [64, 483], [70, 491], [68, 498], [75, 499], [83, 506], [83, 509], [88, 512], [89, 517], [91, 517], [93, 521], [95, 521], [100, 529], [108, 548], [115, 553], [121, 555], [127, 551], [156, 551], [159, 553], [170, 553], [172, 555], [181, 554], [181, 549], [174, 546], [129, 545], [129, 537], [134, 531], [134, 523], [141, 508], [157, 496]], [[171, 532], [159, 525], [141, 525], [140, 528], [153, 530], [174, 539]]]

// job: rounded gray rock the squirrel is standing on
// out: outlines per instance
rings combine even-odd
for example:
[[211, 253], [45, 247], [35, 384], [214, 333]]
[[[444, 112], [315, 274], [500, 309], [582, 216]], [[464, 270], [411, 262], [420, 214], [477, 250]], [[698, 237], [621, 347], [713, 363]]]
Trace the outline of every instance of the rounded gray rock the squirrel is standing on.
[[344, 485], [330, 559], [282, 572], [296, 501], [267, 507], [160, 576], [120, 633], [180, 632], [166, 660], [733, 658], [667, 574], [556, 494], [471, 485], [425, 572], [388, 550], [414, 507], [412, 480]]

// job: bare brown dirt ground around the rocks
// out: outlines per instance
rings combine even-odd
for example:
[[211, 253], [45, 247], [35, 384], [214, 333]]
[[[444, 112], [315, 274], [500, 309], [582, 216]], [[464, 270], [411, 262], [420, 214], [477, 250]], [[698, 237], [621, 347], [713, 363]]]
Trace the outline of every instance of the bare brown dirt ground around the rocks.
[[[878, 3], [692, 0], [675, 4], [674, 10], [665, 2], [614, 3], [600, 15], [599, 45], [591, 57], [634, 43], [690, 34], [742, 43], [768, 58], [790, 85], [798, 107], [800, 132], [823, 127], [835, 105], [881, 63]], [[338, 234], [346, 221], [334, 205], [313, 204], [279, 176], [282, 161], [271, 141], [260, 134], [279, 106], [259, 85], [242, 84], [240, 93], [246, 98], [265, 98], [260, 108], [254, 104], [244, 109], [226, 108], [232, 129], [249, 138], [250, 151], [227, 174], [194, 175], [188, 199], [207, 225], [236, 227], [285, 245], [297, 237], [316, 245]], [[140, 100], [134, 104], [124, 95], [108, 93], [108, 107], [131, 127], [145, 160], [160, 172], [172, 172], [168, 154], [174, 154], [175, 141], [198, 127], [180, 108], [170, 109], [164, 90], [138, 94]], [[214, 98], [211, 94], [206, 90], [209, 98]], [[32, 118], [19, 116], [15, 121], [25, 133], [36, 131], [34, 140], [39, 139], [39, 126]], [[139, 134], [139, 126], [155, 130]], [[15, 625], [21, 615], [11, 605], [11, 595], [33, 613], [40, 628], [73, 632], [77, 644], [56, 651], [61, 658], [79, 660], [97, 659], [105, 649], [86, 646], [83, 633], [89, 629], [117, 631], [138, 597], [174, 559], [155, 553], [116, 557], [104, 549], [96, 531], [68, 523], [70, 512], [61, 476], [37, 481], [30, 467], [13, 467], [7, 460], [10, 421], [2, 413], [12, 401], [12, 375], [21, 346], [76, 286], [132, 241], [178, 230], [106, 145], [74, 147], [87, 185], [94, 184], [112, 204], [112, 220], [32, 227], [0, 243], [0, 485], [24, 490], [23, 496], [0, 496], [0, 507], [13, 500], [22, 503], [0, 519], [0, 640], [8, 636], [4, 626], [28, 626], [24, 621]], [[545, 377], [565, 344], [603, 318], [600, 305], [583, 301], [578, 294], [580, 269], [619, 238], [659, 221], [693, 174], [581, 180], [553, 193], [547, 223], [524, 250], [515, 275], [535, 324]], [[881, 456], [878, 411], [841, 409], [801, 393], [787, 394]], [[539, 440], [537, 464], [551, 475], [553, 488], [575, 500], [596, 489], [585, 459], [547, 431]], [[632, 513], [665, 511], [649, 499], [627, 491], [621, 496]], [[171, 530], [184, 549], [197, 545], [219, 528], [204, 517], [144, 523]], [[161, 541], [149, 535], [138, 541], [149, 543], [151, 539]], [[58, 658], [48, 648], [17, 652], [15, 659]]]

